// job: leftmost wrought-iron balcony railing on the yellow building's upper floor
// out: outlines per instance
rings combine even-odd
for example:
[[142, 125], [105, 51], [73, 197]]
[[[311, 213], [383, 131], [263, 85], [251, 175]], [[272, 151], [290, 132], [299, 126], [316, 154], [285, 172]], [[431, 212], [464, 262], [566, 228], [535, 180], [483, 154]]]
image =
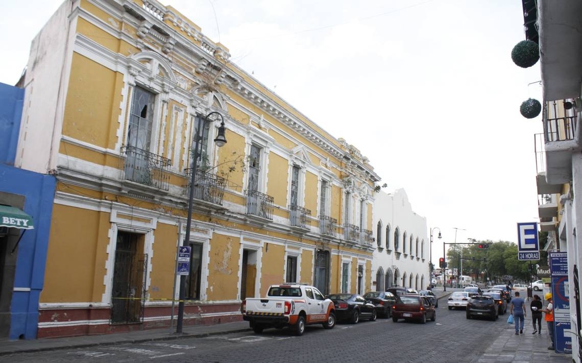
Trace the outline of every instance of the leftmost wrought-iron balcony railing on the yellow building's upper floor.
[[135, 146], [123, 146], [123, 174], [126, 180], [168, 191], [171, 160]]

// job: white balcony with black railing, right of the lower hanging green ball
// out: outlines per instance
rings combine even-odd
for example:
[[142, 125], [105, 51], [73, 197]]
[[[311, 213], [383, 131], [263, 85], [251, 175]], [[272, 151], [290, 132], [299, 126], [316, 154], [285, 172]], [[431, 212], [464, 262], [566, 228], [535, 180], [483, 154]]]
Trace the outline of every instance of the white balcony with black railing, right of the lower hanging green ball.
[[544, 103], [545, 171], [550, 185], [572, 180], [572, 154], [581, 149], [577, 113], [572, 99]]

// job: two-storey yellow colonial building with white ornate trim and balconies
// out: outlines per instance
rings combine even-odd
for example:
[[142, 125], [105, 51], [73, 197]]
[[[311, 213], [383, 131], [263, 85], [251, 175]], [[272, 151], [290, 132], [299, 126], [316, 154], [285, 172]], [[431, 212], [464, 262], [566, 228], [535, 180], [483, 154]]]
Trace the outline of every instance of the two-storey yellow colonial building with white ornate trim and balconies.
[[67, 0], [34, 39], [16, 164], [58, 180], [38, 337], [170, 325], [195, 132], [185, 324], [273, 283], [371, 289], [378, 175], [229, 57], [153, 0]]

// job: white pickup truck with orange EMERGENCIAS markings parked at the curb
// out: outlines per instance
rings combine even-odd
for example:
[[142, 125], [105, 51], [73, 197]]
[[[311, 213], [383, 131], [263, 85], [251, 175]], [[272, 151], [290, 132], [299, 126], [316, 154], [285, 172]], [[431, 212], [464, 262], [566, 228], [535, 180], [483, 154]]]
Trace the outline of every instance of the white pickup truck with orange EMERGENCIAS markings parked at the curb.
[[303, 283], [271, 285], [267, 297], [243, 300], [240, 311], [257, 334], [271, 326], [289, 326], [295, 335], [303, 335], [306, 324], [322, 324], [325, 329], [335, 326], [333, 301]]

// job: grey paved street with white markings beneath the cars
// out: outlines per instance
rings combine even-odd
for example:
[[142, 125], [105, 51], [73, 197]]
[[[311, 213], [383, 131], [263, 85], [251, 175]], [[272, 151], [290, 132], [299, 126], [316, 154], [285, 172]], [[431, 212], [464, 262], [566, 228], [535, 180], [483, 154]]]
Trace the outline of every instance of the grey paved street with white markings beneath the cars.
[[[444, 301], [441, 301], [444, 302]], [[441, 304], [437, 321], [418, 324], [378, 318], [325, 330], [309, 326], [301, 337], [288, 329], [267, 329], [205, 338], [119, 344], [2, 357], [7, 362], [471, 362], [506, 328], [507, 315], [495, 322], [467, 320], [463, 310]]]

